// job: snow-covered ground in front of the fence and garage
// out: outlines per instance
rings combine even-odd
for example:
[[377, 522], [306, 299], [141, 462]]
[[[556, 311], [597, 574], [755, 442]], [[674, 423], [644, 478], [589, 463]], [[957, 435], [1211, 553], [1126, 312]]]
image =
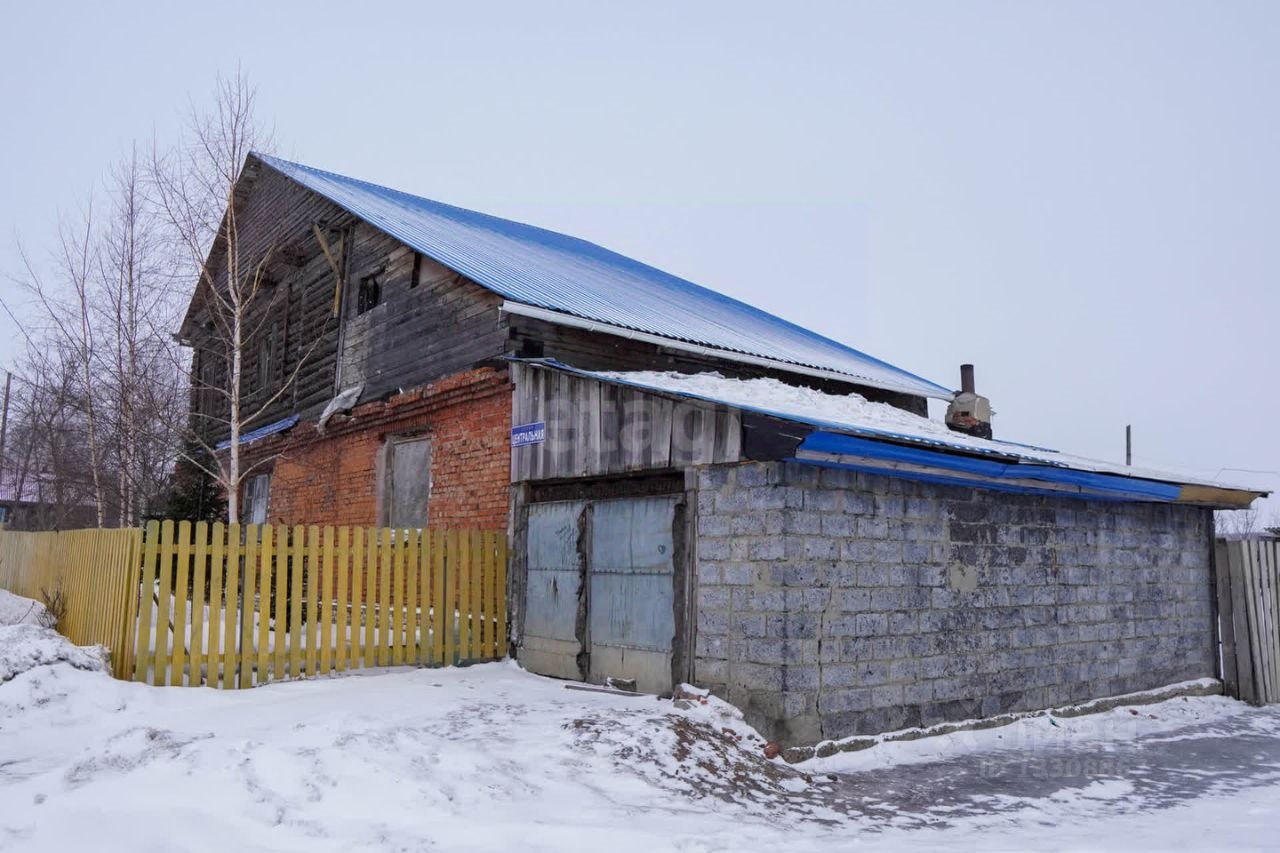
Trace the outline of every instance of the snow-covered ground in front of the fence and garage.
[[1280, 710], [1220, 697], [796, 767], [714, 699], [515, 663], [115, 681], [0, 626], [0, 850], [1274, 849]]

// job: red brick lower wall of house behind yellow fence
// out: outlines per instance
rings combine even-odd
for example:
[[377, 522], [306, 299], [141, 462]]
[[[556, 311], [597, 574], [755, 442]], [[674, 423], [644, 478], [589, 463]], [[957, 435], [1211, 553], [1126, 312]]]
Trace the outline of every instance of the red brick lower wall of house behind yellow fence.
[[481, 368], [358, 406], [330, 420], [324, 435], [302, 423], [287, 437], [246, 448], [257, 457], [279, 453], [271, 523], [379, 524], [379, 452], [388, 435], [425, 432], [431, 437], [428, 524], [506, 529], [511, 392], [506, 371]]

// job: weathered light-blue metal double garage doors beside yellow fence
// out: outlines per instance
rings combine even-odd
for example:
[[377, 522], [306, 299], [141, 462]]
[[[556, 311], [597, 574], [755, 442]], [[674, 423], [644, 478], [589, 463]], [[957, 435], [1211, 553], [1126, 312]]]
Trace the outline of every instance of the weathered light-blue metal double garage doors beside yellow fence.
[[635, 679], [650, 693], [671, 689], [680, 500], [530, 505], [521, 648], [527, 669]]

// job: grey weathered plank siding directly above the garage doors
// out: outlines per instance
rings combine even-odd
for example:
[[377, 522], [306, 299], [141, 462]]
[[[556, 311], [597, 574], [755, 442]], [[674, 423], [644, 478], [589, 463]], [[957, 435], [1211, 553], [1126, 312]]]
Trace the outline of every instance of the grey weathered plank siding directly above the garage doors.
[[513, 447], [511, 479], [548, 480], [682, 469], [741, 459], [737, 410], [676, 401], [531, 365], [512, 365], [512, 424], [547, 424]]

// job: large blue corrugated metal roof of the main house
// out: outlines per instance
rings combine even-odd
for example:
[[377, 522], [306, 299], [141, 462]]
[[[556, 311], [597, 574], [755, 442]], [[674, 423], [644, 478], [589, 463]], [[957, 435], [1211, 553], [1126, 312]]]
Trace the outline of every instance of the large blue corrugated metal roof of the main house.
[[716, 291], [553, 231], [255, 155], [302, 186], [521, 305], [622, 330], [950, 400], [951, 391]]

